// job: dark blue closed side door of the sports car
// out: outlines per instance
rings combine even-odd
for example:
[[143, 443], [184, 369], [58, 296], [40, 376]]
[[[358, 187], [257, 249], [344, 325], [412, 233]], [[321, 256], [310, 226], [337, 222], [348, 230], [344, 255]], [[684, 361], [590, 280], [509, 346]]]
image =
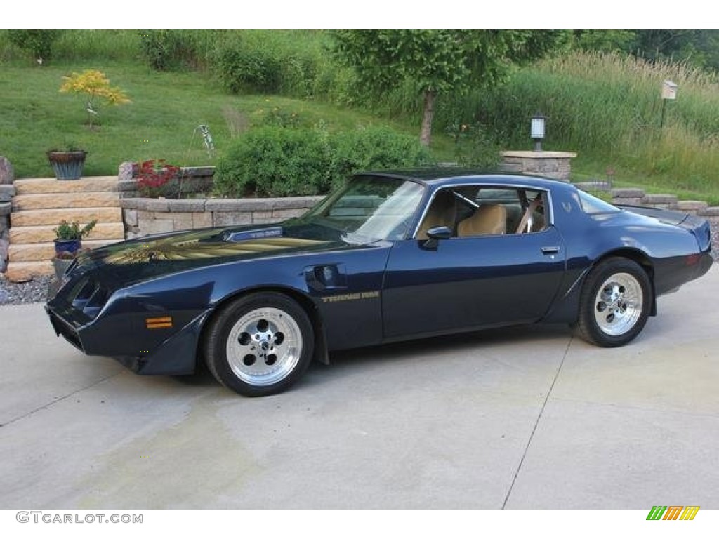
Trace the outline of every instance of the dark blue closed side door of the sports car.
[[395, 241], [383, 285], [385, 338], [528, 323], [546, 313], [564, 275], [564, 241], [551, 223], [549, 193], [541, 193], [538, 216], [546, 222], [518, 234], [517, 214], [532, 197], [511, 190], [510, 201], [475, 201], [508, 209], [503, 233], [460, 235], [466, 212], [458, 212], [451, 238]]

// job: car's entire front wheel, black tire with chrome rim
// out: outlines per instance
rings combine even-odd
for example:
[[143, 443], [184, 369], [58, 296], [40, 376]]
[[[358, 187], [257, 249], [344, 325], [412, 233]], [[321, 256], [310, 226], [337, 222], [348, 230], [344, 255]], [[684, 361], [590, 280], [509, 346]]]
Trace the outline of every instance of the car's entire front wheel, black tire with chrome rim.
[[226, 305], [211, 321], [203, 354], [212, 375], [247, 397], [283, 392], [312, 359], [314, 333], [298, 303], [257, 292]]

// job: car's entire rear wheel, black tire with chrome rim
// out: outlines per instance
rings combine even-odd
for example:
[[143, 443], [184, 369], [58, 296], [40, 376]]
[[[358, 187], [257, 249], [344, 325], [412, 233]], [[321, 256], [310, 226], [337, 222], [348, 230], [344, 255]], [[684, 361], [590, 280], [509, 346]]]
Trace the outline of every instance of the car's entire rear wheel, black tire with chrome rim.
[[597, 346], [623, 346], [644, 329], [652, 287], [636, 262], [612, 257], [592, 268], [580, 299], [577, 333]]

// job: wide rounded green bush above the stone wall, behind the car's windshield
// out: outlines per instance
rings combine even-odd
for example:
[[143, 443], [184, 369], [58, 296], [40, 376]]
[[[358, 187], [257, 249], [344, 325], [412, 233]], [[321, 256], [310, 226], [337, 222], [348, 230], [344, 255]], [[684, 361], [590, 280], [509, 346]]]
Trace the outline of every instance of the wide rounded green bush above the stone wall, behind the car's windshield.
[[215, 172], [215, 190], [229, 197], [317, 195], [358, 170], [429, 163], [416, 137], [388, 128], [330, 137], [324, 129], [265, 126], [230, 145]]

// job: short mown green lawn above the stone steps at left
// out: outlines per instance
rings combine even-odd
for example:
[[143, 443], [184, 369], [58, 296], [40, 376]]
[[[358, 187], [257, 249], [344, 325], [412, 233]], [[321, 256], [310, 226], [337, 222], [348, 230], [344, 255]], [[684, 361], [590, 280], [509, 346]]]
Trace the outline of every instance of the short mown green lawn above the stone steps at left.
[[[99, 125], [86, 125], [80, 96], [60, 93], [63, 75], [99, 69], [132, 103], [101, 106]], [[52, 174], [45, 152], [68, 143], [88, 151], [85, 175], [114, 175], [123, 161], [165, 159], [175, 165], [214, 165], [196, 127], [210, 127], [221, 155], [229, 139], [270, 114], [296, 114], [303, 124], [322, 122], [330, 132], [389, 124], [400, 132], [418, 129], [366, 112], [328, 103], [280, 96], [230, 96], [201, 73], [162, 73], [127, 63], [86, 63], [73, 67], [18, 67], [0, 70], [0, 155], [13, 164], [17, 178]], [[451, 152], [439, 140], [440, 157]]]

